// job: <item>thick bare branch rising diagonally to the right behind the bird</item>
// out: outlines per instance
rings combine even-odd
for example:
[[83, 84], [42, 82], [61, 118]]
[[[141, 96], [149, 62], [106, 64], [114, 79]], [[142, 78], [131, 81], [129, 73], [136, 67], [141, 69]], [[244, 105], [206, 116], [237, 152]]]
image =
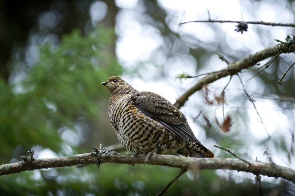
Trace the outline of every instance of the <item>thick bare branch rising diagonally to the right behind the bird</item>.
[[247, 57], [242, 58], [241, 60], [232, 62], [228, 65], [228, 67], [219, 70], [218, 72], [209, 73], [202, 79], [200, 79], [195, 85], [189, 88], [185, 93], [183, 93], [178, 100], [174, 103], [176, 108], [181, 108], [185, 102], [189, 99], [189, 97], [195, 93], [196, 91], [202, 89], [202, 87], [226, 76], [235, 75], [243, 69], [250, 68], [257, 64], [258, 62], [267, 59], [271, 56], [274, 56], [278, 53], [291, 53], [295, 51], [295, 43], [286, 44], [276, 44], [274, 46], [265, 48], [256, 52], [255, 54], [251, 54]]

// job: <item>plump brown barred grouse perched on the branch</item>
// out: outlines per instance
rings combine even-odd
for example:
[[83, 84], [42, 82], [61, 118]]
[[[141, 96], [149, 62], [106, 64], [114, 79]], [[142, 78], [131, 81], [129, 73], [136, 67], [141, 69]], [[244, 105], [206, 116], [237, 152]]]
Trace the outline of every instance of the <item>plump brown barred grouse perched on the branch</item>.
[[130, 152], [214, 158], [195, 137], [186, 116], [159, 94], [138, 91], [119, 76], [101, 83], [110, 93], [110, 124]]

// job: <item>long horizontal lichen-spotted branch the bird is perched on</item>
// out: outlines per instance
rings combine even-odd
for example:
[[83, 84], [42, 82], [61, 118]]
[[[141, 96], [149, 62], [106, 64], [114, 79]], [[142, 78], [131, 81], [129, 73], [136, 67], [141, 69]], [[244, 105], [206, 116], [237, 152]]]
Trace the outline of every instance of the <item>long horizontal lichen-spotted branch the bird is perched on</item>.
[[[104, 164], [106, 162], [113, 162], [119, 164], [143, 164], [145, 155], [139, 154], [121, 154], [113, 151], [98, 151], [96, 153], [77, 154], [72, 156], [58, 157], [58, 158], [39, 158], [24, 161], [14, 162], [12, 164], [5, 164], [0, 166], [0, 176], [8, 175], [23, 171], [48, 169], [57, 167], [69, 167], [81, 164]], [[255, 175], [265, 175], [269, 177], [281, 177], [295, 183], [295, 171], [257, 161], [242, 161], [238, 158], [192, 158], [181, 157], [174, 155], [157, 155], [150, 157], [146, 164], [167, 166], [173, 168], [181, 168], [184, 170], [237, 170], [250, 172]]]

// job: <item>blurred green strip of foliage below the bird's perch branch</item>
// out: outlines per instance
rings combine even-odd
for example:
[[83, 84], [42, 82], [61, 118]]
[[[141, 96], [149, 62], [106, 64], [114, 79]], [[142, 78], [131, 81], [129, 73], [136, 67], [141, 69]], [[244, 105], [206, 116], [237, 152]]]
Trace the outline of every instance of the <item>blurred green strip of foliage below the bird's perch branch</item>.
[[[9, 175], [6, 180], [16, 177], [17, 190], [14, 191], [15, 185], [11, 184], [1, 184], [0, 189], [17, 195], [156, 195], [179, 171], [177, 168], [121, 164], [102, 164], [99, 169], [95, 165], [51, 168]], [[174, 182], [165, 195], [259, 195], [254, 178], [236, 182], [223, 177], [224, 172], [216, 175], [209, 170], [189, 171]], [[263, 184], [262, 191], [268, 193], [269, 188], [268, 184]]]

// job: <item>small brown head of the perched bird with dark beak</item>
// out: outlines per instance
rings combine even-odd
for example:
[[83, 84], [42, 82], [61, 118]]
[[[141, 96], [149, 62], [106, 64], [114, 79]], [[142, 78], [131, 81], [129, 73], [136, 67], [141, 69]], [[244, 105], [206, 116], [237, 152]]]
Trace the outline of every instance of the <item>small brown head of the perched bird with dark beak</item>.
[[127, 82], [125, 82], [119, 76], [111, 76], [107, 79], [107, 81], [102, 82], [101, 84], [106, 87], [106, 90], [110, 94], [128, 93], [133, 89], [132, 86], [130, 86]]

